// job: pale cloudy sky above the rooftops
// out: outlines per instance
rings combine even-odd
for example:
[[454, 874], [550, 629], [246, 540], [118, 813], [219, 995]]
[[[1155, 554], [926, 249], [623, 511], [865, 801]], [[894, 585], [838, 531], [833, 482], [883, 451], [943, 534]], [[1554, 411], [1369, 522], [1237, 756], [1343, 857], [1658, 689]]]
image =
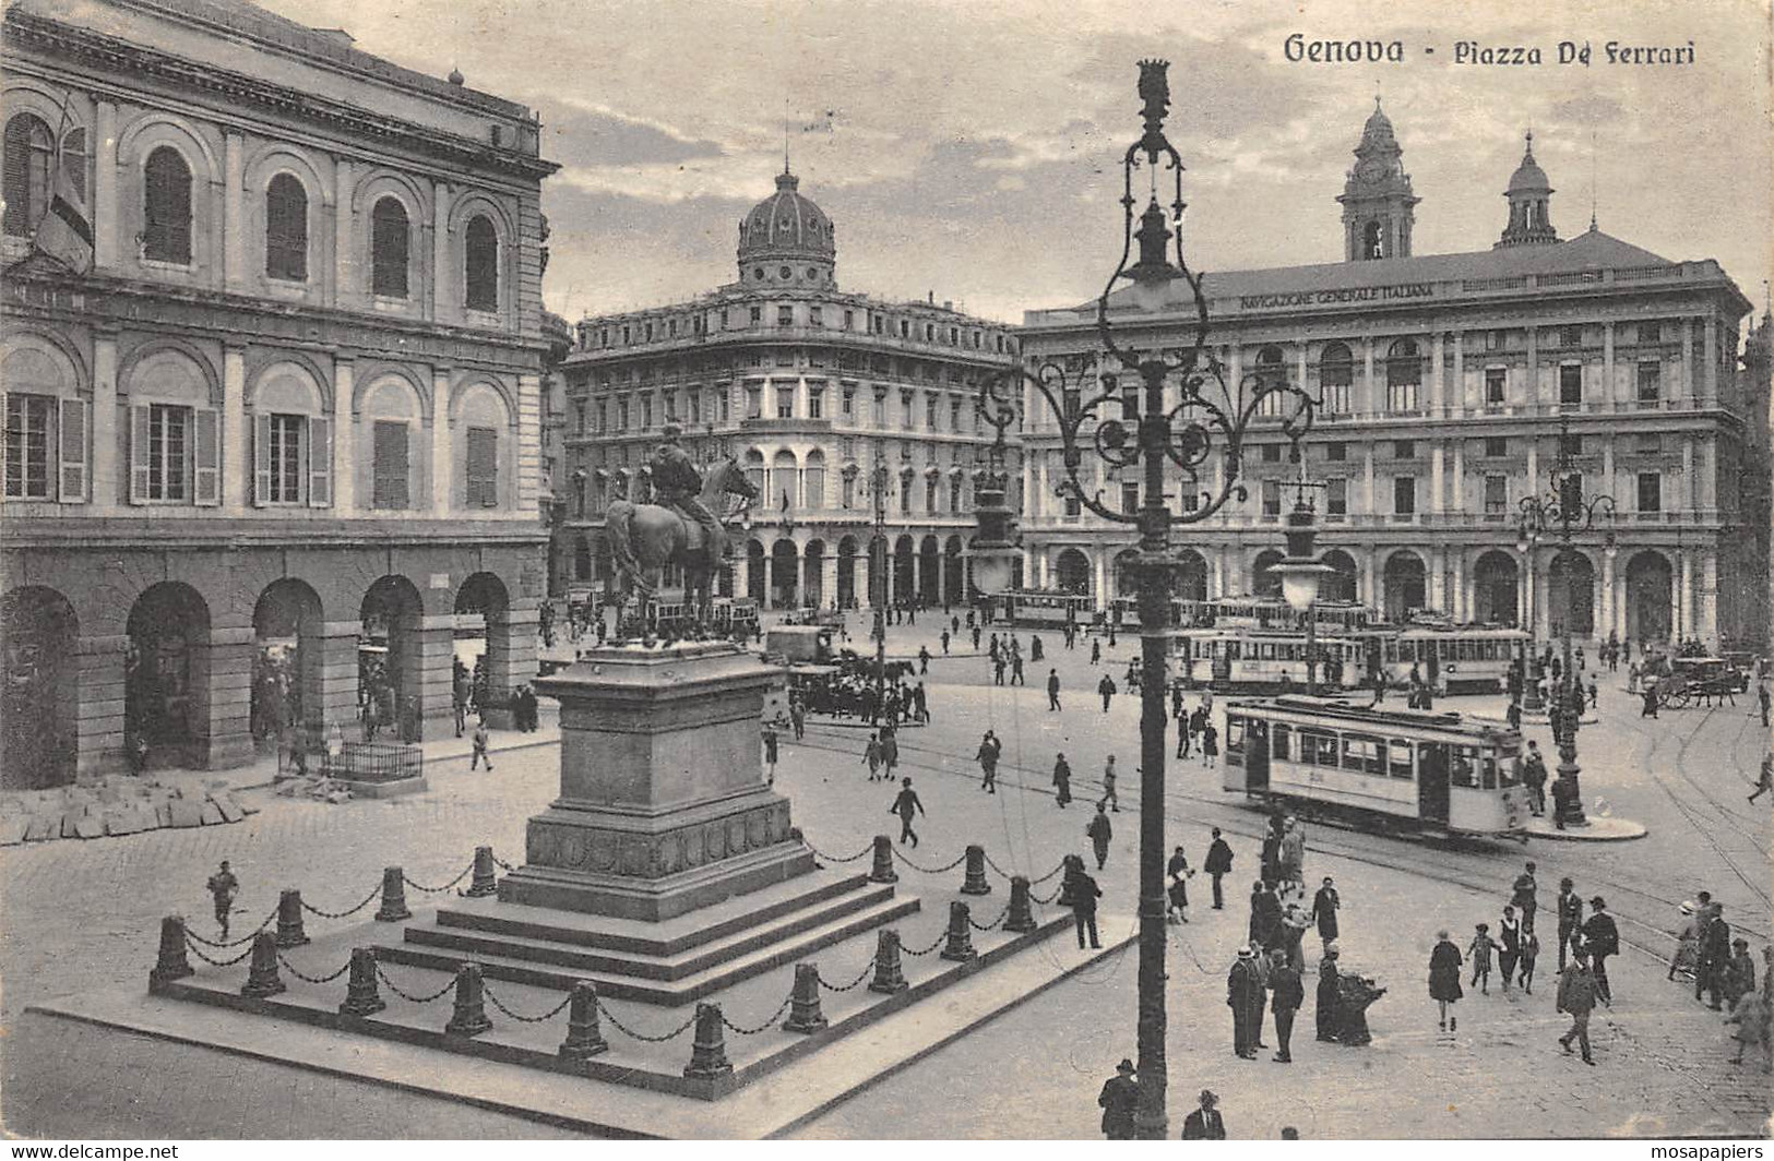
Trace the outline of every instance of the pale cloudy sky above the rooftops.
[[[1196, 269], [1334, 262], [1336, 195], [1378, 94], [1417, 197], [1416, 252], [1488, 248], [1535, 131], [1561, 238], [1600, 229], [1774, 277], [1769, 0], [261, 0], [357, 46], [532, 106], [568, 319], [733, 282], [738, 222], [784, 142], [837, 225], [841, 289], [1002, 321], [1095, 298], [1121, 245], [1135, 62], [1171, 60]], [[1293, 62], [1286, 39], [1400, 41]], [[1455, 64], [1460, 41], [1543, 62]], [[1559, 41], [1590, 66], [1558, 64]], [[1605, 44], [1692, 66], [1609, 64]]]

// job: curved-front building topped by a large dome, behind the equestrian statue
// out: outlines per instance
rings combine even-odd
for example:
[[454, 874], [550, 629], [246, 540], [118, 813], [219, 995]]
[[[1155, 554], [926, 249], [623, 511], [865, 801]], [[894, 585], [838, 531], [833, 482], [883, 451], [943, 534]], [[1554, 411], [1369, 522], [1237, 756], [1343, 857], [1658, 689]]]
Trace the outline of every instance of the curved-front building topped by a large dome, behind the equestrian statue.
[[933, 296], [839, 291], [832, 220], [786, 168], [775, 186], [740, 220], [736, 282], [578, 323], [553, 567], [568, 588], [601, 588], [605, 503], [633, 495], [678, 424], [697, 459], [736, 459], [763, 495], [722, 592], [766, 608], [869, 603], [880, 464], [887, 599], [963, 601], [972, 473], [992, 441], [974, 401], [1017, 339]]

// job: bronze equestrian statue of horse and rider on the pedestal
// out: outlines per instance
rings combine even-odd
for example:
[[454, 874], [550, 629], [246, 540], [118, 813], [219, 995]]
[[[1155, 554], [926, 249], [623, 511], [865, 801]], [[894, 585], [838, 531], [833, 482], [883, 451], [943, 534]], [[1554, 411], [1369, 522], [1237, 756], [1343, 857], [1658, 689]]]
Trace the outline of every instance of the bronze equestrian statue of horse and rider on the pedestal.
[[[612, 500], [603, 526], [624, 597], [639, 594], [644, 613], [646, 601], [658, 590], [660, 569], [676, 564], [683, 569], [685, 604], [706, 626], [711, 580], [727, 555], [727, 530], [715, 509], [726, 519], [738, 518], [757, 498], [757, 487], [733, 457], [713, 464], [704, 477], [678, 445], [681, 436], [683, 429], [667, 424], [663, 441], [648, 463], [656, 503]], [[736, 509], [727, 510], [727, 496], [740, 496]]]

